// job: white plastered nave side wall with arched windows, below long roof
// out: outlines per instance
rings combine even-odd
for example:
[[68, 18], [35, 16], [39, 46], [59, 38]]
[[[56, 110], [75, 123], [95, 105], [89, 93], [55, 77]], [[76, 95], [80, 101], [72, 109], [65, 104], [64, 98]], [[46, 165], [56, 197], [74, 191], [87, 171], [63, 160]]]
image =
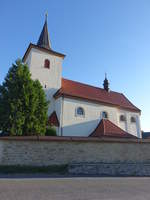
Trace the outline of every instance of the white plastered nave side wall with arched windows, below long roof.
[[[77, 107], [84, 109], [85, 115], [83, 117], [76, 115]], [[63, 103], [62, 134], [64, 136], [89, 136], [102, 119], [101, 113], [103, 111], [108, 113], [108, 118], [111, 122], [129, 133], [141, 137], [139, 113], [69, 98], [64, 98]], [[126, 124], [120, 122], [119, 118], [121, 114], [126, 116]], [[136, 123], [130, 122], [131, 116], [136, 117]]]

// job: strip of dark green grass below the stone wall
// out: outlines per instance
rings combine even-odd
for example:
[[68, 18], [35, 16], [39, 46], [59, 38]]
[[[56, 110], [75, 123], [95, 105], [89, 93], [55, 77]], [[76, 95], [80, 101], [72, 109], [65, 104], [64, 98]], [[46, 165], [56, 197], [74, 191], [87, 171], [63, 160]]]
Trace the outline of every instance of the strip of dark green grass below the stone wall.
[[0, 166], [0, 174], [66, 174], [68, 165], [51, 165], [51, 166]]

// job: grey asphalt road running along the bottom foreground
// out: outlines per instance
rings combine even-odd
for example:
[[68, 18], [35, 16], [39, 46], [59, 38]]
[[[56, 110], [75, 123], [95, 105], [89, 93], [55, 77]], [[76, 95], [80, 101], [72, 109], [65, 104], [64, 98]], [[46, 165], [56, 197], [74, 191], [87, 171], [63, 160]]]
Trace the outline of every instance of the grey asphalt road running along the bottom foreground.
[[0, 200], [150, 200], [150, 178], [0, 179]]

